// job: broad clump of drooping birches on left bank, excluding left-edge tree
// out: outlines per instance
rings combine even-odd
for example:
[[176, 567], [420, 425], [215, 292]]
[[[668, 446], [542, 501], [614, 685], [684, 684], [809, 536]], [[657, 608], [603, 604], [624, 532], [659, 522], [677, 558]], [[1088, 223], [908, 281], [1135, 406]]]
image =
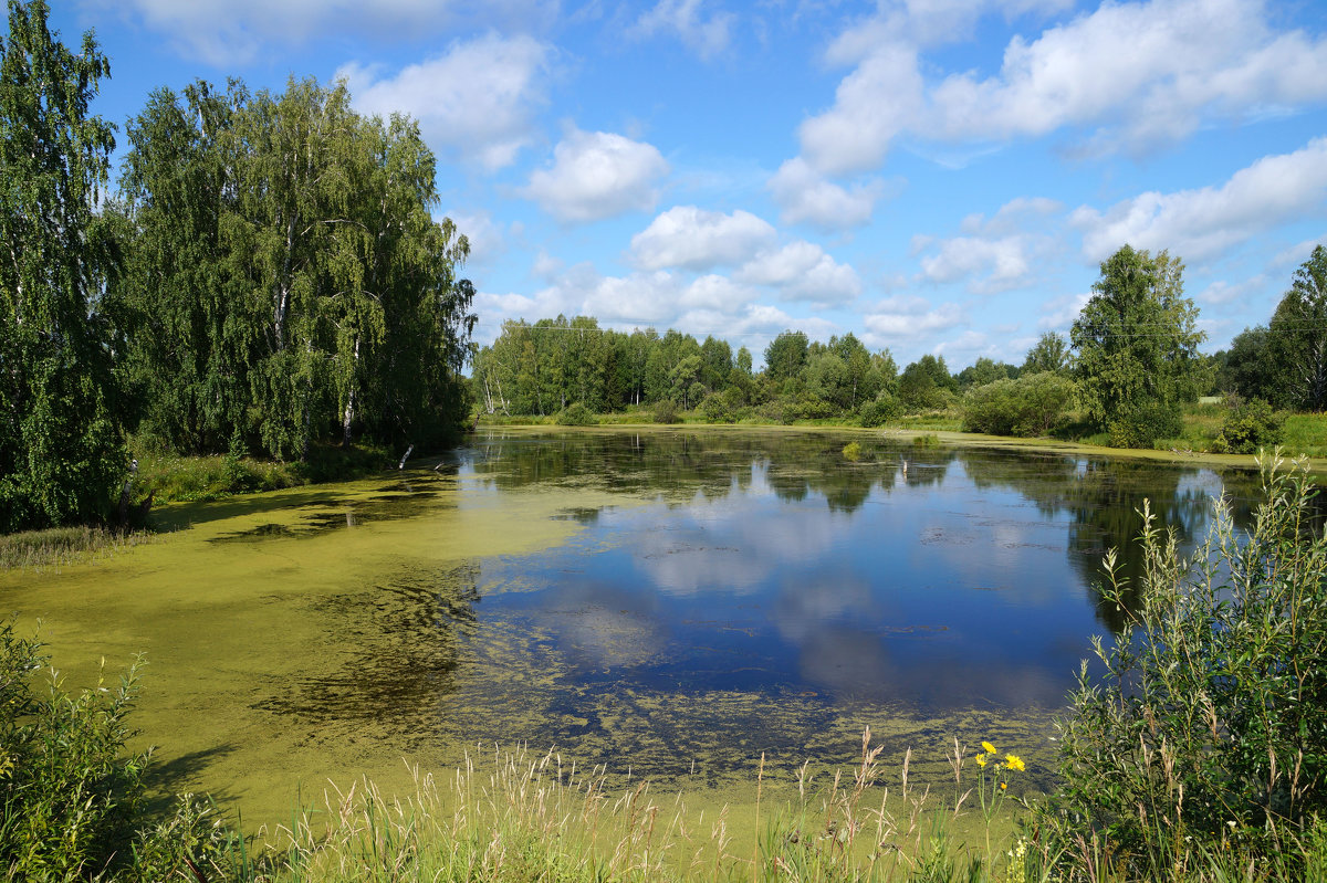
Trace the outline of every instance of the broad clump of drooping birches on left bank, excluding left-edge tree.
[[434, 221], [418, 126], [366, 118], [344, 86], [162, 89], [129, 125], [109, 290], [143, 430], [182, 452], [305, 459], [357, 434], [437, 444], [459, 379], [468, 243]]

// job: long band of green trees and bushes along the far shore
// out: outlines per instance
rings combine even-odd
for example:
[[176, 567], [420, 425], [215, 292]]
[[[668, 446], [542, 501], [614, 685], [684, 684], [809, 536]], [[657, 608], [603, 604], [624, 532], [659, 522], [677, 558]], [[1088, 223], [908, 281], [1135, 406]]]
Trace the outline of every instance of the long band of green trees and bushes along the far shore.
[[508, 321], [472, 359], [472, 387], [490, 415], [608, 414], [649, 406], [710, 422], [848, 419], [878, 426], [904, 414], [961, 411], [969, 428], [1040, 435], [1078, 416], [1120, 447], [1149, 447], [1177, 431], [1178, 406], [1200, 395], [1233, 403], [1327, 407], [1327, 251], [1294, 273], [1265, 326], [1229, 350], [1198, 351], [1198, 308], [1184, 266], [1125, 245], [1101, 264], [1068, 338], [1046, 333], [1020, 365], [978, 358], [957, 373], [943, 357], [902, 366], [852, 333], [811, 341], [779, 334], [754, 369], [727, 341], [654, 329], [601, 329], [593, 317]]

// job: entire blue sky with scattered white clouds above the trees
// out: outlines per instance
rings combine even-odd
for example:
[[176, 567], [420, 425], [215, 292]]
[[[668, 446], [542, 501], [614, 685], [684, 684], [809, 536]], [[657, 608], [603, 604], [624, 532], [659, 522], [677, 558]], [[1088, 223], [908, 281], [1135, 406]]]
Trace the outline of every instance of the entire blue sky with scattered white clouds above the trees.
[[1318, 0], [53, 5], [121, 131], [232, 76], [415, 117], [480, 342], [564, 313], [1019, 363], [1129, 243], [1185, 261], [1216, 350], [1327, 243]]

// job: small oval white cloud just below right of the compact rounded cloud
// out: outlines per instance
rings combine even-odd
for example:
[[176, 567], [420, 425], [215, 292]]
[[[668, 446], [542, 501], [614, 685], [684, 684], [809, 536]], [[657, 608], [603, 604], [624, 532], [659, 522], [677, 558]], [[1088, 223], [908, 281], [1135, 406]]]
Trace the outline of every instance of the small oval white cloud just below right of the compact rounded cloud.
[[677, 206], [632, 237], [632, 255], [645, 269], [706, 270], [750, 260], [776, 239], [768, 221], [738, 209], [731, 215]]

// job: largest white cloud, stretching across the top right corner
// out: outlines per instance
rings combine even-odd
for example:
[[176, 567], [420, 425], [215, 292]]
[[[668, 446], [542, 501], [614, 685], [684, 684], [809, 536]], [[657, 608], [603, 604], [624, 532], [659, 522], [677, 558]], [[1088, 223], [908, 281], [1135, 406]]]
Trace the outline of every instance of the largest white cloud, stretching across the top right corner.
[[1205, 119], [1239, 122], [1327, 98], [1327, 40], [1278, 32], [1259, 0], [1105, 3], [1015, 36], [997, 74], [922, 74], [925, 34], [897, 9], [845, 32], [827, 54], [853, 70], [831, 109], [804, 121], [821, 172], [877, 166], [901, 134], [1005, 141], [1082, 130], [1093, 150], [1143, 148]]

